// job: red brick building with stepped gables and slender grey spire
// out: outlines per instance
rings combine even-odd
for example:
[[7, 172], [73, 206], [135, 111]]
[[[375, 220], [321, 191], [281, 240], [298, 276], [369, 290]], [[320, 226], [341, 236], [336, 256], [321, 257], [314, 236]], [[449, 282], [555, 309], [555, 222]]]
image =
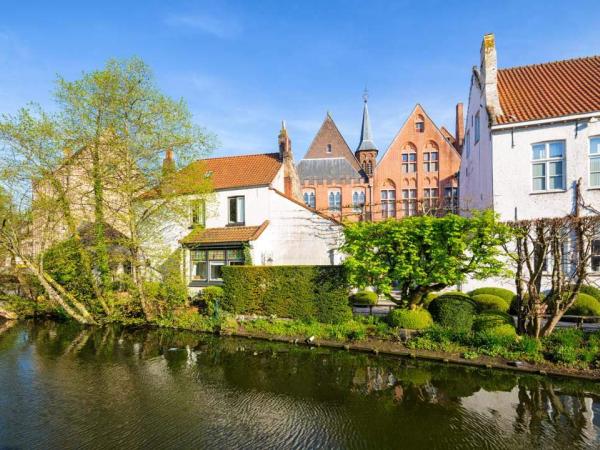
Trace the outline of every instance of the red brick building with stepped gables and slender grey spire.
[[298, 164], [305, 203], [347, 220], [455, 211], [462, 113], [462, 104], [458, 104], [455, 138], [416, 105], [379, 159], [366, 96], [360, 141], [354, 153], [328, 113]]

